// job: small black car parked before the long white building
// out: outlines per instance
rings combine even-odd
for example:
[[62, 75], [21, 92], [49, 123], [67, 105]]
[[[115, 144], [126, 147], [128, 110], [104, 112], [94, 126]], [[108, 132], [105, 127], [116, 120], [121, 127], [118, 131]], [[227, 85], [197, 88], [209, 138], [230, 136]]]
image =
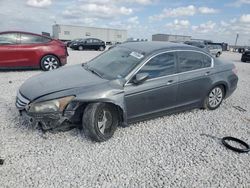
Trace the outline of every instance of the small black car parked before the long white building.
[[106, 48], [105, 42], [96, 38], [86, 38], [77, 41], [73, 41], [70, 46], [73, 50], [100, 50], [103, 51]]

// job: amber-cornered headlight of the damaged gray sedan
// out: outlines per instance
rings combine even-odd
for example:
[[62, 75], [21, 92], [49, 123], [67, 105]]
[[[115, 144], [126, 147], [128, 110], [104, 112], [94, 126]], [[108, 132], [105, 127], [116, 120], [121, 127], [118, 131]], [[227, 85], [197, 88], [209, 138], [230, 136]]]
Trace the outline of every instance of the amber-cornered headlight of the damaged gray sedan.
[[29, 112], [62, 112], [70, 103], [74, 96], [63, 97], [45, 102], [31, 103], [29, 105]]

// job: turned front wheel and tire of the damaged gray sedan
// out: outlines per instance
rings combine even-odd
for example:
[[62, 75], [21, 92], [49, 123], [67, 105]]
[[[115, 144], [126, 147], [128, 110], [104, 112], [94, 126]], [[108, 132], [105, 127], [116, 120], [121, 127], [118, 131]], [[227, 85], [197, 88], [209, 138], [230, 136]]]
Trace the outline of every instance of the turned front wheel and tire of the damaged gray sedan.
[[110, 139], [119, 124], [116, 109], [107, 103], [90, 103], [82, 117], [83, 132], [97, 142]]

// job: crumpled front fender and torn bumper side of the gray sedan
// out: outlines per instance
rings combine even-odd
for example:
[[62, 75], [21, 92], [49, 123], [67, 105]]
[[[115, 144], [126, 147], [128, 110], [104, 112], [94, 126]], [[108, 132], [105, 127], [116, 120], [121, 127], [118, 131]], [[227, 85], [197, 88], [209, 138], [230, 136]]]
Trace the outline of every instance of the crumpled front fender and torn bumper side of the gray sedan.
[[23, 110], [25, 116], [32, 120], [32, 124], [41, 124], [45, 130], [54, 130], [63, 126], [64, 122], [79, 123], [82, 113], [88, 103], [105, 102], [117, 106], [121, 117], [121, 125], [127, 126], [127, 110], [124, 102], [124, 82], [122, 80], [107, 81], [91, 87], [78, 87], [48, 94], [37, 98], [33, 102], [48, 101], [60, 97], [75, 98], [67, 105], [63, 112], [29, 113]]

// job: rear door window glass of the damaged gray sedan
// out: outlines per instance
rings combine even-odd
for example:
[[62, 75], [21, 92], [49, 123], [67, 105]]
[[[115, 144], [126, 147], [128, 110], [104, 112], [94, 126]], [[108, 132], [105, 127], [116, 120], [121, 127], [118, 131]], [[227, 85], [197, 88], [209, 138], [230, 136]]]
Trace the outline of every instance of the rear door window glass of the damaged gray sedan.
[[178, 52], [179, 72], [187, 72], [211, 66], [211, 58], [199, 52]]

